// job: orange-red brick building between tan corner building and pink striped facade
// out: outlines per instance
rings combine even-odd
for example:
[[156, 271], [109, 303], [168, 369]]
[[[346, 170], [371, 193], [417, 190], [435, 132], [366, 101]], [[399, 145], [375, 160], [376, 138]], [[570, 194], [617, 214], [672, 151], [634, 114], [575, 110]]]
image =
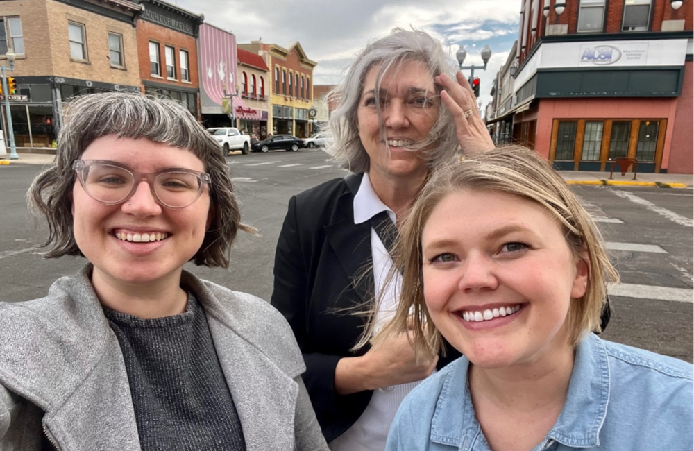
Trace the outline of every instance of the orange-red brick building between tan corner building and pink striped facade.
[[137, 19], [137, 54], [142, 92], [198, 108], [197, 37], [203, 16], [161, 0], [134, 0], [144, 10]]

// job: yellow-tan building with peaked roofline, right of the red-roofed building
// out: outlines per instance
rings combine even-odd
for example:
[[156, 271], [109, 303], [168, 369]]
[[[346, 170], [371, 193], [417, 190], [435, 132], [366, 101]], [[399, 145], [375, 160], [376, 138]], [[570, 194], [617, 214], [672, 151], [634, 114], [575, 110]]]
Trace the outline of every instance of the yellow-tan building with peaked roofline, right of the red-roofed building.
[[313, 68], [298, 42], [285, 49], [277, 44], [253, 41], [239, 44], [239, 49], [264, 56], [270, 69], [270, 103], [272, 114], [268, 128], [273, 135], [289, 133], [308, 137], [312, 133], [309, 110], [313, 106]]

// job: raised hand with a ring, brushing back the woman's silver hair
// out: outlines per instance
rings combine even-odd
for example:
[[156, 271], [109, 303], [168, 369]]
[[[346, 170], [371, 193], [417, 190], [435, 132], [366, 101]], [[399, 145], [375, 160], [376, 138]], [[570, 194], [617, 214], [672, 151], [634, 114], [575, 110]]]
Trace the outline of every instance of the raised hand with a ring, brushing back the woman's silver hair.
[[[455, 74], [457, 83], [446, 74], [434, 77], [434, 83], [444, 88], [441, 101], [453, 115], [458, 143], [464, 153], [489, 151], [494, 143], [477, 109], [473, 88], [462, 72]], [[468, 112], [468, 116], [465, 116]]]

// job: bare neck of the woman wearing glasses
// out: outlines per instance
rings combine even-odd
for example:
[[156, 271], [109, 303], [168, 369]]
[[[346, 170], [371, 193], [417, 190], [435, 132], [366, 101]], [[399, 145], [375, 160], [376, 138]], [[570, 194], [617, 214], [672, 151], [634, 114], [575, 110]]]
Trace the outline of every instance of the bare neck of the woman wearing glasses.
[[130, 283], [94, 269], [92, 286], [101, 305], [117, 312], [151, 319], [185, 312], [187, 293], [180, 288], [180, 271], [164, 280]]

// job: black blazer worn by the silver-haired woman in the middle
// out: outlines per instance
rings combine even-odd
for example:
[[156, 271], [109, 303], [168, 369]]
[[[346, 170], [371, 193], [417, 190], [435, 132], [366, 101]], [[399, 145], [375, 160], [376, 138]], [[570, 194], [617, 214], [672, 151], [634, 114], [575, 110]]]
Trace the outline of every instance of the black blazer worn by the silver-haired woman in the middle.
[[[371, 224], [355, 225], [354, 196], [363, 174], [330, 180], [293, 196], [275, 254], [271, 303], [289, 321], [303, 352], [306, 388], [330, 442], [362, 415], [371, 391], [335, 393], [335, 367], [350, 351], [364, 318], [345, 312], [373, 300]], [[439, 368], [460, 356], [448, 346]]]

